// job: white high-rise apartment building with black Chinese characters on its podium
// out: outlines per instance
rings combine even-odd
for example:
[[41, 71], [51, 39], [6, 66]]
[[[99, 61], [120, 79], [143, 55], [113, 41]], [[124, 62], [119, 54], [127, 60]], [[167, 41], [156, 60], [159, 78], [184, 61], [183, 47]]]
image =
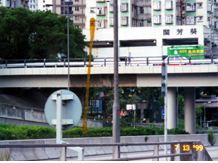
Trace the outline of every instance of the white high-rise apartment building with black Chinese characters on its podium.
[[[87, 41], [96, 19], [93, 55], [112, 57], [113, 0], [89, 0], [86, 8]], [[174, 45], [216, 43], [217, 14], [217, 0], [118, 0], [119, 55], [161, 56]]]

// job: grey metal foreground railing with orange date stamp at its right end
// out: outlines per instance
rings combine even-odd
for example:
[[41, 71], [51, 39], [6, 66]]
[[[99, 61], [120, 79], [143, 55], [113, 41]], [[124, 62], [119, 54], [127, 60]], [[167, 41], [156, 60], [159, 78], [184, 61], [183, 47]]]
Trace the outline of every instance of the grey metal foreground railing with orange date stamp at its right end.
[[[66, 142], [65, 142], [66, 143]], [[160, 147], [168, 145], [168, 152], [166, 155], [160, 155], [159, 152], [163, 151]], [[83, 147], [112, 147], [112, 146], [155, 146], [153, 155], [142, 157], [125, 157], [118, 159], [104, 159], [102, 161], [127, 161], [127, 160], [142, 160], [142, 159], [155, 159], [169, 157], [171, 161], [211, 161], [211, 157], [207, 150], [200, 141], [175, 141], [175, 142], [153, 142], [153, 143], [96, 143], [96, 144], [1, 144], [0, 149], [13, 148], [61, 148], [60, 160], [67, 160], [67, 150], [75, 150], [78, 152], [79, 160], [84, 160]], [[76, 148], [76, 149], [75, 149]], [[78, 148], [78, 149], [77, 149]], [[21, 150], [22, 151], [22, 150]], [[30, 150], [31, 151], [31, 150]], [[33, 151], [33, 150], [32, 150]], [[120, 151], [120, 150], [118, 150]], [[13, 150], [12, 150], [13, 152]], [[162, 152], [163, 153], [163, 152]], [[100, 156], [100, 155], [99, 155]], [[98, 161], [100, 161], [98, 159]]]

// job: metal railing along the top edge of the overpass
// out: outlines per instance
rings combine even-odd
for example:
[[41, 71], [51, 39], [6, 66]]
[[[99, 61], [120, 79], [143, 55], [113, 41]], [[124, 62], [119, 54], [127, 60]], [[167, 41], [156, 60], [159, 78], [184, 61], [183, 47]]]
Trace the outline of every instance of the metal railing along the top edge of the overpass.
[[[169, 65], [199, 65], [199, 64], [217, 64], [217, 55], [211, 55], [210, 58], [200, 58], [202, 56], [168, 56], [165, 61]], [[153, 57], [132, 57], [133, 66], [160, 66], [163, 62], [162, 56]], [[70, 58], [70, 67], [87, 67], [88, 58]], [[119, 57], [119, 66], [128, 66], [128, 57]], [[113, 57], [92, 58], [91, 66], [105, 67], [114, 66]], [[0, 60], [0, 68], [49, 68], [49, 67], [68, 67], [68, 60], [58, 59], [15, 59]]]

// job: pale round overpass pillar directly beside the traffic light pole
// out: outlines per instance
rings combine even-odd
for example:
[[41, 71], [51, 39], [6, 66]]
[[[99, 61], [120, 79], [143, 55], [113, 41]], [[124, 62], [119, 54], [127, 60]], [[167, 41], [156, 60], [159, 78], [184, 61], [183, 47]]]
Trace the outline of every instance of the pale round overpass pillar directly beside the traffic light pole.
[[167, 89], [167, 129], [177, 127], [176, 87]]

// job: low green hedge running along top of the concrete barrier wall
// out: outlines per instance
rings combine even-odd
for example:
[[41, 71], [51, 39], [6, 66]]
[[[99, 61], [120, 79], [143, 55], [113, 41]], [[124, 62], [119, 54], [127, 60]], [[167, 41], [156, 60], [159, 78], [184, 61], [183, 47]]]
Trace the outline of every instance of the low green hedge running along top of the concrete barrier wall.
[[[169, 134], [188, 134], [181, 129], [168, 130]], [[150, 127], [121, 127], [121, 136], [135, 136], [135, 135], [163, 135], [164, 129], [150, 126]], [[70, 130], [63, 131], [63, 138], [74, 137], [103, 137], [112, 136], [112, 128], [87, 128], [87, 133], [84, 134], [81, 127], [75, 127]], [[45, 139], [55, 138], [56, 130], [44, 126], [17, 126], [11, 124], [0, 123], [0, 140], [18, 140], [18, 139]]]

